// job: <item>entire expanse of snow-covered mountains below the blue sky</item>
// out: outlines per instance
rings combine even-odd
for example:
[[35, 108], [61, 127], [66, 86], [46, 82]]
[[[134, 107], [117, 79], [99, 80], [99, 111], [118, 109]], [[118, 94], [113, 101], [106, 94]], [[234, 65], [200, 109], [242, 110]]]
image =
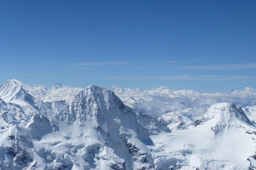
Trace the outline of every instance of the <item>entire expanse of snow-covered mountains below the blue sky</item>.
[[63, 87], [0, 86], [0, 169], [256, 169], [253, 92]]

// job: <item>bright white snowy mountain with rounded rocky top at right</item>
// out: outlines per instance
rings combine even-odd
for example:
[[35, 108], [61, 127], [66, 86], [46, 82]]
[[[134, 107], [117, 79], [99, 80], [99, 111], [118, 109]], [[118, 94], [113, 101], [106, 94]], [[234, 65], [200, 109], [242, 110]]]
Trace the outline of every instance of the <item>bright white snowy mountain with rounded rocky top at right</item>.
[[194, 126], [151, 137], [151, 149], [159, 162], [165, 160], [163, 169], [170, 163], [173, 169], [254, 169], [255, 134], [242, 109], [214, 104]]

